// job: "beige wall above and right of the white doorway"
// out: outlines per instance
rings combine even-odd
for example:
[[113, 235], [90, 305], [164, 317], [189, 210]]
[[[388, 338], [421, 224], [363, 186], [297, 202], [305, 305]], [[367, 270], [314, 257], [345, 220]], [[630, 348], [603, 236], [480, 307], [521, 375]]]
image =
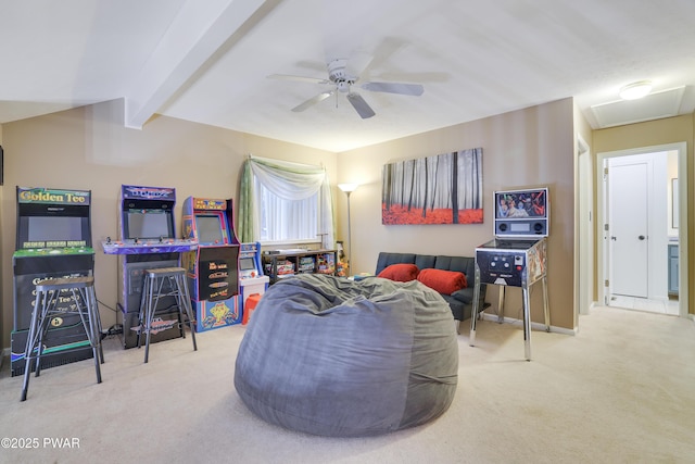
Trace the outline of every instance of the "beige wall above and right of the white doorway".
[[[629, 126], [611, 127], [595, 130], [593, 134], [594, 153], [628, 150], [642, 147], [653, 147], [667, 143], [687, 143], [687, 198], [693, 198], [695, 191], [695, 163], [693, 163], [693, 143], [695, 142], [695, 118], [693, 114], [668, 117]], [[695, 237], [695, 214], [693, 201], [687, 202], [687, 242], [693, 243]], [[688, 246], [688, 250], [692, 248]], [[695, 278], [695, 260], [693, 252], [687, 256], [687, 287], [693, 288]], [[690, 312], [695, 311], [695, 292], [688, 292]]]

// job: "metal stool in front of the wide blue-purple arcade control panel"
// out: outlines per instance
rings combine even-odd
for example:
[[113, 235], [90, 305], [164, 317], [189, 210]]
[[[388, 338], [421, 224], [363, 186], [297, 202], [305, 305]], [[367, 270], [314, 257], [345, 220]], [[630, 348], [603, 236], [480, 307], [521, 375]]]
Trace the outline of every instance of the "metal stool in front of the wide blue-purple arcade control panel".
[[[164, 287], [167, 285], [168, 289]], [[160, 267], [144, 271], [144, 283], [142, 284], [142, 299], [140, 300], [140, 333], [138, 334], [138, 348], [142, 343], [142, 333], [147, 334], [144, 341], [144, 362], [148, 362], [150, 353], [150, 335], [152, 334], [152, 322], [156, 313], [156, 306], [161, 298], [175, 297], [180, 324], [188, 318], [193, 339], [193, 351], [198, 351], [195, 344], [195, 328], [191, 299], [186, 284], [186, 269], [184, 267]], [[181, 330], [181, 336], [186, 338], [186, 331]]]

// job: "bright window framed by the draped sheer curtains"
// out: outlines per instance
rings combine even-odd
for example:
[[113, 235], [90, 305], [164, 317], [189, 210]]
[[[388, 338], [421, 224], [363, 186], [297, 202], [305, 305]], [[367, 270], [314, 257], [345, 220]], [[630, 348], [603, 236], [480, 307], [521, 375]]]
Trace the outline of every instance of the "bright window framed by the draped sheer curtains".
[[254, 178], [258, 204], [261, 241], [320, 241], [318, 235], [318, 193], [303, 200], [286, 200]]

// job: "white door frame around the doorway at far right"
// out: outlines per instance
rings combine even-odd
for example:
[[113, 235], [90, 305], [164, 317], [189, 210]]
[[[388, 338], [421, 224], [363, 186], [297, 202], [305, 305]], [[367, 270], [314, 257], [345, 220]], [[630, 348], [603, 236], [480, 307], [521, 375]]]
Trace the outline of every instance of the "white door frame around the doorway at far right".
[[[604, 305], [606, 303], [606, 287], [604, 285], [606, 275], [606, 240], [604, 240], [604, 224], [605, 224], [605, 199], [606, 192], [604, 191], [604, 164], [609, 158], [626, 156], [633, 154], [646, 154], [662, 151], [675, 151], [678, 153], [678, 199], [679, 199], [679, 315], [681, 317], [687, 317], [688, 315], [688, 292], [687, 292], [687, 145], [686, 142], [666, 143], [652, 147], [640, 147], [628, 150], [608, 151], [596, 153], [596, 217], [601, 221], [596, 221], [595, 237], [596, 242], [601, 238], [601, 244], [597, 243], [597, 290], [598, 302]], [[664, 251], [667, 252], [666, 250]]]

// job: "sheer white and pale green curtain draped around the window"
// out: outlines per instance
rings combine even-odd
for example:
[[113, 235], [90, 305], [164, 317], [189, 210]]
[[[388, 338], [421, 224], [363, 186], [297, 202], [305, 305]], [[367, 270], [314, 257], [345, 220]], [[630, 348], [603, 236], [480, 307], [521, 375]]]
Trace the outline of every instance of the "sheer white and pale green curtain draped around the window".
[[[260, 208], [265, 205], [262, 198], [256, 198], [258, 190], [255, 183], [263, 185], [268, 192], [287, 201], [298, 201], [317, 196], [318, 234], [321, 234], [321, 246], [334, 248], [333, 211], [330, 195], [330, 181], [326, 170], [320, 166], [270, 160], [250, 155], [244, 164], [240, 191], [239, 230], [243, 242], [261, 239]], [[268, 208], [274, 208], [268, 203]], [[277, 205], [276, 205], [277, 206]], [[281, 206], [280, 206], [281, 208]], [[296, 215], [289, 221], [300, 221]], [[311, 221], [303, 217], [301, 221]]]

